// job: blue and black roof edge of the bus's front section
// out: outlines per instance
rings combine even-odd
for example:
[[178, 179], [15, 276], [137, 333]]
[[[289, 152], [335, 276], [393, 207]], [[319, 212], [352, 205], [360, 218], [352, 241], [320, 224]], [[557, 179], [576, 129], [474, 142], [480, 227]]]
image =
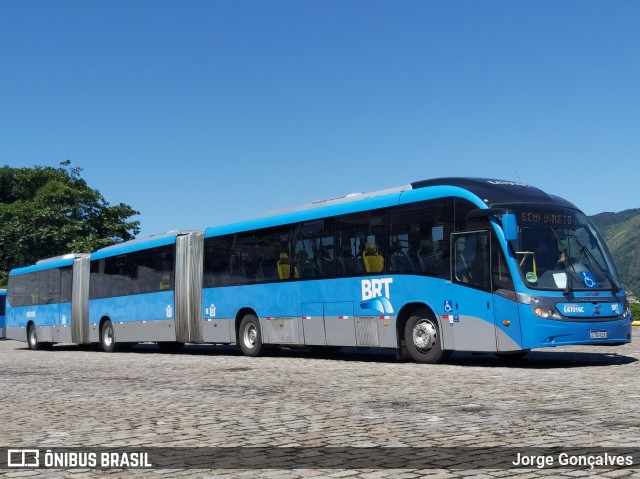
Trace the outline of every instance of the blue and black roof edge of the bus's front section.
[[467, 199], [478, 208], [489, 208], [504, 203], [559, 204], [575, 208], [562, 198], [548, 195], [524, 183], [487, 178], [436, 178], [371, 193], [352, 193], [284, 208], [257, 219], [207, 228], [205, 237], [450, 196]]

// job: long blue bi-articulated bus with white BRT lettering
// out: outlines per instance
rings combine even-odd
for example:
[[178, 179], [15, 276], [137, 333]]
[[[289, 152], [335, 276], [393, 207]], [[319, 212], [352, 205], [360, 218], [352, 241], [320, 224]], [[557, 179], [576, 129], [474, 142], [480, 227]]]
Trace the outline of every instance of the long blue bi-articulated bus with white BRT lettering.
[[[88, 314], [72, 315], [87, 335], [72, 342], [105, 351], [142, 341], [238, 344], [250, 356], [271, 345], [356, 346], [435, 363], [452, 351], [517, 356], [631, 340], [596, 228], [569, 202], [507, 181], [443, 178], [349, 195], [134, 240], [89, 263], [88, 305], [74, 296]], [[10, 274], [13, 339], [44, 326], [37, 308], [13, 299], [30, 268]]]

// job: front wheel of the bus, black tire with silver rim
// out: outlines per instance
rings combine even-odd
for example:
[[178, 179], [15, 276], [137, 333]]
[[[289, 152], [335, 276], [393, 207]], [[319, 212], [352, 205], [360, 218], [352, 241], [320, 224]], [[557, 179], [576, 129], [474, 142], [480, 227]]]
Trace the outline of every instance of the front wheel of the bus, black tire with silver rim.
[[451, 356], [451, 351], [442, 349], [438, 321], [425, 311], [418, 311], [407, 320], [404, 341], [409, 356], [417, 363], [440, 363]]

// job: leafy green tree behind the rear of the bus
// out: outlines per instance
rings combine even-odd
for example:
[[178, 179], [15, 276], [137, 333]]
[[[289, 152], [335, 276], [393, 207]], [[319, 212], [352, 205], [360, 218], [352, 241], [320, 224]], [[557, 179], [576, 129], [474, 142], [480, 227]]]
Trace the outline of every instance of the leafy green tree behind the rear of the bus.
[[0, 168], [0, 285], [18, 266], [66, 253], [88, 253], [135, 238], [139, 214], [111, 206], [70, 161], [59, 168]]

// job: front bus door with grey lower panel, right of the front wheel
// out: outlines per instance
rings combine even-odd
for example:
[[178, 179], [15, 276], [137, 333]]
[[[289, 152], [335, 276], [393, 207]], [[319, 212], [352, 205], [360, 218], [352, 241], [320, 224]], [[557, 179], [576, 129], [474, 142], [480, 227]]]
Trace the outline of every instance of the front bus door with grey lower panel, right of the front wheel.
[[451, 235], [451, 293], [442, 305], [447, 349], [496, 351], [489, 230]]

